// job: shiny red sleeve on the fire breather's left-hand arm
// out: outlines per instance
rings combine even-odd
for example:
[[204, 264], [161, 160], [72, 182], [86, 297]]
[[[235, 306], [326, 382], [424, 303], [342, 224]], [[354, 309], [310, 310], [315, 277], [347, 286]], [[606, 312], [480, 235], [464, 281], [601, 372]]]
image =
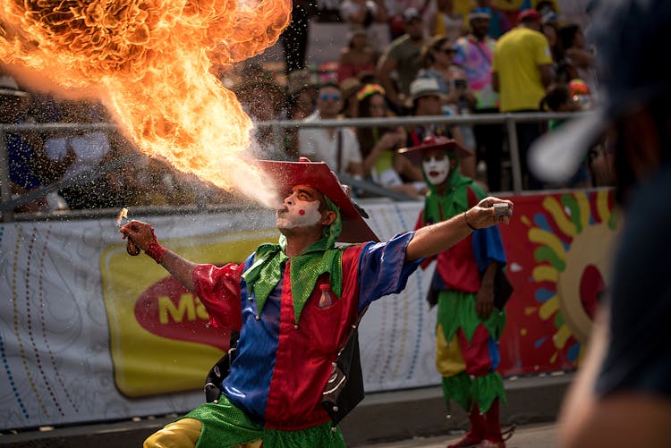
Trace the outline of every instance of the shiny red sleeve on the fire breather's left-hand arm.
[[196, 294], [208, 310], [209, 325], [240, 330], [240, 278], [243, 267], [229, 263], [222, 267], [198, 265], [193, 269]]

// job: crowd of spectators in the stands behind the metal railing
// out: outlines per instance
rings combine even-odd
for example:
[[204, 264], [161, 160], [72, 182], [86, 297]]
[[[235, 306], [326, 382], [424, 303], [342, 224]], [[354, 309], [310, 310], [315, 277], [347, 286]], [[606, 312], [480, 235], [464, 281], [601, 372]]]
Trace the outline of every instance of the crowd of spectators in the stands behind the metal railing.
[[[533, 9], [515, 12], [497, 10], [488, 0], [469, 2], [467, 11], [456, 7], [463, 2], [452, 0], [293, 4], [296, 17], [281, 37], [282, 68], [273, 70], [257, 59], [222, 75], [255, 122], [564, 112], [589, 109], [598, 101], [594, 49], [580, 25], [563, 21], [556, 2], [531, 2]], [[347, 27], [347, 44], [333, 49], [334, 63], [326, 72], [306, 64], [312, 20], [342, 21]], [[369, 30], [376, 23], [385, 24], [389, 33], [382, 51], [371, 45]], [[8, 73], [2, 73], [0, 99], [2, 123], [111, 123], [100, 104], [29, 93]], [[528, 173], [525, 153], [541, 132], [561, 123], [517, 123], [525, 189], [557, 187]], [[287, 128], [281, 139], [274, 132], [254, 130], [254, 156], [308, 156], [338, 173], [415, 198], [426, 192], [420, 169], [408, 166], [396, 151], [445, 135], [469, 154], [459, 164], [464, 175], [487, 190], [512, 190], [508, 140], [500, 124], [366, 128], [344, 123]], [[194, 177], [175, 173], [162, 160], [142, 156], [113, 127], [7, 132], [5, 140], [13, 199], [59, 182], [59, 188], [23, 201], [15, 211], [231, 200]], [[607, 141], [599, 142], [580, 172], [561, 187], [611, 184], [608, 147]], [[129, 163], [114, 163], [120, 159]]]

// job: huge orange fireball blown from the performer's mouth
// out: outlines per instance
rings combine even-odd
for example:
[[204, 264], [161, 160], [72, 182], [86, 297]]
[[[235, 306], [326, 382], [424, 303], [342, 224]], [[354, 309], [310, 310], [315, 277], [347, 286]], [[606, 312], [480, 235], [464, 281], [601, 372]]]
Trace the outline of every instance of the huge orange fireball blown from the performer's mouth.
[[97, 91], [142, 152], [271, 206], [247, 151], [251, 119], [212, 71], [275, 44], [291, 4], [3, 0], [0, 60], [65, 90]]

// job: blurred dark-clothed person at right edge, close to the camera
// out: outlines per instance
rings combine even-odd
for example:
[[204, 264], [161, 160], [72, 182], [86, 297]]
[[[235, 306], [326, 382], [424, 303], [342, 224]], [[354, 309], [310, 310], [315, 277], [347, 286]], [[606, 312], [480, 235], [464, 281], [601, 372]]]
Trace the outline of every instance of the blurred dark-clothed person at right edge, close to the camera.
[[560, 413], [560, 446], [671, 446], [671, 66], [659, 64], [671, 3], [600, 2], [595, 13], [599, 21], [590, 32], [602, 102], [540, 139], [530, 159], [539, 176], [561, 181], [601, 135], [616, 136], [616, 200], [624, 228], [607, 299]]

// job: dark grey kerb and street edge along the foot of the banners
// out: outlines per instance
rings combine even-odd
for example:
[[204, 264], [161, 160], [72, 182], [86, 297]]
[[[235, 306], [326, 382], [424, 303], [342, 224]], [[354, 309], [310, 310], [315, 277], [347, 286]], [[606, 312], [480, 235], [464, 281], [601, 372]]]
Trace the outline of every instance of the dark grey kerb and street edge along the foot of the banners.
[[[557, 410], [573, 374], [504, 380], [508, 404], [501, 408], [502, 427], [517, 425], [507, 448], [556, 448]], [[444, 448], [459, 440], [468, 416], [453, 407], [446, 419], [440, 386], [369, 393], [341, 422], [350, 448]], [[176, 415], [147, 416], [118, 422], [0, 433], [3, 448], [119, 448], [141, 446]]]

